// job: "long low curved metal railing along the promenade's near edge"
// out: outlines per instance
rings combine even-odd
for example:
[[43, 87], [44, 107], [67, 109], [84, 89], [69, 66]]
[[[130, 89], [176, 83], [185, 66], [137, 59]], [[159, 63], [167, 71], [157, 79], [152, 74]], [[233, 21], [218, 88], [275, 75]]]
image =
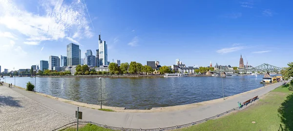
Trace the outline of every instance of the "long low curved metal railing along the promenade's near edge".
[[[196, 121], [196, 122], [191, 122], [191, 123], [188, 123], [188, 124], [184, 124], [184, 125], [176, 125], [176, 126], [173, 126], [173, 127], [167, 127], [167, 128], [156, 128], [156, 129], [131, 129], [131, 128], [119, 128], [119, 127], [112, 127], [112, 126], [107, 126], [107, 125], [102, 125], [102, 124], [98, 124], [98, 123], [94, 123], [94, 122], [91, 122], [91, 121], [81, 121], [79, 123], [90, 123], [90, 124], [94, 124], [94, 125], [97, 125], [99, 127], [103, 127], [103, 128], [107, 128], [107, 129], [112, 129], [112, 130], [120, 130], [120, 131], [165, 131], [165, 130], [172, 130], [172, 129], [178, 129], [178, 128], [184, 128], [184, 127], [188, 127], [188, 126], [192, 126], [192, 125], [195, 125], [195, 124], [199, 124], [199, 123], [202, 123], [202, 122], [206, 122], [210, 119], [214, 119], [214, 118], [217, 118], [217, 117], [220, 117], [224, 114], [227, 114], [229, 112], [232, 112], [232, 111], [235, 111], [236, 108], [233, 108], [229, 111], [226, 111], [226, 112], [223, 112], [223, 113], [220, 113], [220, 114], [217, 114], [217, 115], [214, 115], [212, 117], [209, 117], [209, 118], [206, 118], [206, 119], [203, 119], [203, 120], [199, 120], [199, 121]], [[77, 122], [71, 122], [71, 123], [68, 123], [60, 128], [57, 128], [53, 131], [57, 131], [57, 130], [61, 130], [65, 127], [70, 127], [70, 126], [74, 126], [76, 125]]]

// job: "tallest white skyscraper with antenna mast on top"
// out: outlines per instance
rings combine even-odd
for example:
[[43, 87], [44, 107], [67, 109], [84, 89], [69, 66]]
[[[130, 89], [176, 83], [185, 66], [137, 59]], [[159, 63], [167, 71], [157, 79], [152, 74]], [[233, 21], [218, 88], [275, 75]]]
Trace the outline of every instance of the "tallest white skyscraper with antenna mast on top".
[[101, 33], [99, 35], [99, 59], [100, 65], [108, 65], [108, 53], [106, 41], [101, 40]]

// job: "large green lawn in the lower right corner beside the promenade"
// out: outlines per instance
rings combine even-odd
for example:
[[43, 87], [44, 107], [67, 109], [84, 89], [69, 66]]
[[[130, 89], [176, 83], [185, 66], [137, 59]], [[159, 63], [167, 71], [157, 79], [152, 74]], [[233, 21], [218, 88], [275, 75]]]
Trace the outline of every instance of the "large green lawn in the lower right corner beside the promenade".
[[247, 109], [175, 131], [278, 131], [281, 128], [293, 131], [293, 92], [287, 85], [276, 88]]

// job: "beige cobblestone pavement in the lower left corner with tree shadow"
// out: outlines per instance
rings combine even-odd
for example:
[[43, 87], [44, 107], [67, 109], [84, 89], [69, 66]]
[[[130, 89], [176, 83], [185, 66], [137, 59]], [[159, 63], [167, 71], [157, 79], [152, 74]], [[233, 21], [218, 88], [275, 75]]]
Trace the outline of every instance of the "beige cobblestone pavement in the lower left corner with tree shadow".
[[52, 131], [75, 120], [0, 86], [0, 131]]

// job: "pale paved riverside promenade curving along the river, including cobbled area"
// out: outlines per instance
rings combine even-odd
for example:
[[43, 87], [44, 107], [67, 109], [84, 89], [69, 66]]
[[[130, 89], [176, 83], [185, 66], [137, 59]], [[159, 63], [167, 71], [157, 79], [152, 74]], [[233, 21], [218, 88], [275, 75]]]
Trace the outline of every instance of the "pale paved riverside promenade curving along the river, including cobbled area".
[[[266, 87], [259, 88], [254, 91], [250, 91], [248, 93], [237, 94], [226, 100], [218, 100], [216, 103], [207, 104], [203, 106], [198, 106], [195, 108], [189, 108], [186, 110], [177, 110], [177, 111], [170, 111], [170, 112], [147, 112], [147, 113], [140, 113], [140, 112], [104, 112], [90, 108], [83, 108], [80, 107], [80, 111], [83, 112], [83, 120], [85, 121], [92, 121], [95, 123], [107, 125], [107, 126], [114, 126], [114, 127], [123, 127], [123, 128], [134, 128], [134, 129], [152, 129], [152, 128], [165, 128], [171, 127], [175, 125], [182, 125], [191, 122], [195, 122], [198, 120], [202, 120], [216, 114], [220, 114], [222, 112], [226, 112], [232, 108], [237, 107], [237, 102], [244, 102], [246, 100], [251, 99], [252, 97], [258, 95], [261, 96], [263, 94], [267, 94], [273, 89], [282, 85], [282, 82], [276, 83], [273, 85], [269, 85]], [[15, 92], [13, 92], [15, 91]], [[39, 94], [34, 94], [33, 92], [27, 92], [25, 90], [21, 90], [18, 88], [4, 88], [0, 86], [0, 95], [4, 96], [11, 96], [15, 97], [14, 99], [19, 100], [19, 106], [4, 105], [4, 110], [1, 107], [0, 116], [3, 115], [12, 115], [12, 116], [5, 116], [4, 119], [0, 119], [0, 123], [4, 122], [4, 125], [0, 125], [0, 129], [6, 128], [6, 126], [10, 127], [10, 125], [15, 126], [15, 124], [11, 124], [7, 121], [13, 122], [14, 120], [17, 121], [15, 123], [20, 123], [20, 121], [24, 122], [25, 119], [36, 119], [42, 120], [38, 121], [38, 123], [43, 122], [49, 125], [63, 125], [65, 124], [66, 120], [68, 119], [68, 123], [73, 120], [75, 116], [75, 111], [77, 110], [77, 106], [71, 105], [68, 103], [64, 103], [55, 99], [51, 99]], [[2, 93], [4, 92], [4, 93]], [[6, 92], [6, 93], [5, 93]], [[8, 94], [7, 94], [8, 93]], [[24, 96], [30, 98], [26, 98]], [[32, 100], [31, 100], [32, 99]], [[34, 101], [33, 101], [34, 100]], [[2, 100], [1, 100], [2, 101]], [[1, 102], [2, 103], [2, 102]], [[41, 103], [41, 104], [39, 104]], [[4, 103], [5, 104], [5, 103]], [[17, 104], [16, 104], [17, 105]], [[50, 108], [47, 108], [50, 107]], [[11, 108], [11, 110], [10, 110]], [[23, 108], [23, 109], [22, 109]], [[25, 112], [24, 109], [36, 110], [37, 113], [33, 113], [33, 111]], [[53, 109], [53, 110], [52, 110]], [[20, 110], [20, 111], [19, 111]], [[54, 111], [55, 110], [55, 111]], [[58, 111], [58, 112], [56, 112]], [[42, 113], [44, 114], [42, 114]], [[50, 116], [50, 114], [54, 115]], [[67, 115], [72, 117], [68, 117]], [[22, 115], [30, 116], [30, 118], [23, 118]], [[60, 115], [60, 116], [59, 116]], [[12, 117], [16, 118], [12, 118]], [[19, 120], [21, 118], [21, 120]], [[58, 122], [57, 119], [59, 120]], [[48, 121], [47, 121], [48, 120]], [[26, 127], [32, 127], [35, 123], [27, 123]], [[38, 124], [42, 125], [42, 124]], [[37, 125], [36, 125], [37, 126]], [[17, 128], [17, 126], [16, 126]], [[42, 127], [44, 129], [46, 127]], [[48, 128], [49, 129], [49, 128]]]

